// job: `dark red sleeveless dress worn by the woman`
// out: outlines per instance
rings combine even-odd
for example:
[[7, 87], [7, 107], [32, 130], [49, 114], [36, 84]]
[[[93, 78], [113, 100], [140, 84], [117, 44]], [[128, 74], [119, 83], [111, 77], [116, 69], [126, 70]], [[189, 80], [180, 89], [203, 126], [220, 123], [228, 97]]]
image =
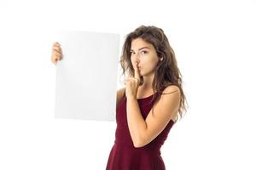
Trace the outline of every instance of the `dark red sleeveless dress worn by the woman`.
[[[137, 99], [144, 120], [154, 104], [154, 95]], [[153, 101], [151, 101], [153, 99]], [[108, 156], [106, 170], [165, 170], [165, 163], [160, 156], [160, 147], [164, 144], [174, 122], [171, 120], [166, 128], [149, 144], [135, 148], [132, 143], [126, 117], [126, 96], [120, 100], [116, 109], [117, 128], [115, 140]]]

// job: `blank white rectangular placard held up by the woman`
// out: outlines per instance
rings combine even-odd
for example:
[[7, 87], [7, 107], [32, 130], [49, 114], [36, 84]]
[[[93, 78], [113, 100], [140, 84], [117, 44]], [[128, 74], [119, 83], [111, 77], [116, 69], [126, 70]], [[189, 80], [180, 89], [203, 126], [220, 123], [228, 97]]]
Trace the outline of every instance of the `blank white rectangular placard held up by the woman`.
[[114, 121], [119, 34], [57, 31], [55, 118]]

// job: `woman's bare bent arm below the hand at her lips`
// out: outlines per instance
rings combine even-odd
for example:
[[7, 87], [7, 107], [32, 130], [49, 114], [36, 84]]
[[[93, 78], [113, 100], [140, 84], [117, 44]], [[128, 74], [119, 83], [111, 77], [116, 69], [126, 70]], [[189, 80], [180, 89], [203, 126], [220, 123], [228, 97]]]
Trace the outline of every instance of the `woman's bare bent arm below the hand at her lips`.
[[128, 97], [126, 103], [127, 123], [134, 147], [143, 147], [155, 139], [177, 114], [180, 91], [177, 86], [169, 86], [163, 91], [159, 102], [154, 107], [154, 115], [149, 111], [143, 119], [137, 99]]

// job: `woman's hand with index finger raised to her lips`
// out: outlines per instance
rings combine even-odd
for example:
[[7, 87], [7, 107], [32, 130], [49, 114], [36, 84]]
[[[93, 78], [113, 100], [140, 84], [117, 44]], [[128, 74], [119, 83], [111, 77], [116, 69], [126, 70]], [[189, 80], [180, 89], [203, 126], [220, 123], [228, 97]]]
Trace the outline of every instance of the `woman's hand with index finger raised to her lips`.
[[137, 88], [139, 87], [139, 84], [141, 82], [141, 76], [138, 70], [138, 63], [136, 62], [136, 65], [134, 67], [134, 77], [128, 77], [125, 79], [125, 95], [126, 98], [135, 98], [137, 99]]

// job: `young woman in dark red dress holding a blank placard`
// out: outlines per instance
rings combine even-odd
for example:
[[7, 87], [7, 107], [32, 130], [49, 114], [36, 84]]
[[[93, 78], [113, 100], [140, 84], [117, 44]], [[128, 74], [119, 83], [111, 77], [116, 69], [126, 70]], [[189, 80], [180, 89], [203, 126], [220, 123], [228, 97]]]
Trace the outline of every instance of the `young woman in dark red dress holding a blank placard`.
[[[53, 45], [52, 62], [61, 59]], [[160, 156], [178, 114], [186, 111], [182, 76], [164, 31], [139, 26], [125, 38], [120, 64], [125, 88], [117, 91], [115, 141], [107, 170], [165, 170]]]

